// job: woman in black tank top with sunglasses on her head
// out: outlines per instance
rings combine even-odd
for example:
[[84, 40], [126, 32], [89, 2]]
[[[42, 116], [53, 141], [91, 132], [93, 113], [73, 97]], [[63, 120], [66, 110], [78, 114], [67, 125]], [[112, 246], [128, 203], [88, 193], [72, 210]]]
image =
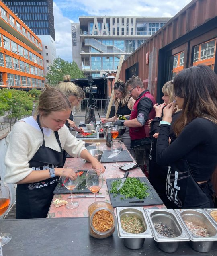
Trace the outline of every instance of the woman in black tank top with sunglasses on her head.
[[[128, 91], [125, 89], [125, 83], [120, 79], [117, 80], [114, 84], [114, 92], [115, 92], [115, 116], [111, 118], [101, 118], [103, 123], [106, 122], [115, 122], [117, 119], [117, 115], [129, 116], [131, 114], [131, 110], [133, 109], [133, 105], [135, 100], [133, 98], [129, 98]], [[129, 127], [126, 127], [125, 133], [121, 135], [121, 139], [129, 152], [133, 155], [133, 150], [130, 148], [130, 136], [129, 136]]]

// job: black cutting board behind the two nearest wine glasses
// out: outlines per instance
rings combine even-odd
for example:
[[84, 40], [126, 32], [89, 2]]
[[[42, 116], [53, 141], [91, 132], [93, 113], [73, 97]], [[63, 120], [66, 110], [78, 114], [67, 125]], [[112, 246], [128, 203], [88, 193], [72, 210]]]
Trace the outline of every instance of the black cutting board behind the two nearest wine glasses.
[[[76, 189], [72, 190], [73, 194], [80, 194], [80, 193], [92, 193], [90, 190], [86, 187], [86, 174], [88, 170], [79, 170], [79, 172], [84, 172], [79, 177], [79, 184]], [[53, 190], [53, 194], [70, 194], [70, 190], [62, 186], [62, 178], [60, 177], [59, 182], [57, 183], [57, 186]]]

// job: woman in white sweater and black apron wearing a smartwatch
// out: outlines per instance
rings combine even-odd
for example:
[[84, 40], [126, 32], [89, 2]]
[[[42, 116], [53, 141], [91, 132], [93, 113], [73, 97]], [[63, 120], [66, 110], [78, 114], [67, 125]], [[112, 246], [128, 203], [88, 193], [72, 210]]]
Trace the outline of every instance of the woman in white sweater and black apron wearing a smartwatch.
[[[74, 157], [104, 167], [91, 156], [66, 127], [71, 105], [59, 90], [45, 85], [39, 97], [38, 115], [17, 122], [6, 138], [4, 163], [7, 183], [17, 185], [16, 218], [46, 218], [53, 190], [63, 171], [63, 150]], [[70, 176], [73, 176], [72, 172]]]

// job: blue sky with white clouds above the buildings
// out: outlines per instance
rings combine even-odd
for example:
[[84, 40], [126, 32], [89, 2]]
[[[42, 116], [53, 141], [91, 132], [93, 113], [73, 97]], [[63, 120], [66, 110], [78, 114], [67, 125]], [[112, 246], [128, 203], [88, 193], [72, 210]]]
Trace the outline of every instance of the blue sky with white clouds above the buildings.
[[72, 62], [70, 23], [79, 23], [79, 16], [173, 17], [190, 2], [191, 0], [53, 0], [57, 57]]

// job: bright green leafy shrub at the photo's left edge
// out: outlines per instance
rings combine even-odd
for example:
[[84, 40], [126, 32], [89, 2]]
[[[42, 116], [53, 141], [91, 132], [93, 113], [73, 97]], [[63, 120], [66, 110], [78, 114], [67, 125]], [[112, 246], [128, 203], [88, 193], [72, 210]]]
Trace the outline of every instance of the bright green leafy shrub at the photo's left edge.
[[11, 130], [18, 119], [31, 115], [33, 101], [27, 92], [16, 89], [0, 90], [0, 99], [2, 97], [4, 97], [4, 106], [0, 105], [0, 111], [8, 118], [8, 128], [10, 127]]

